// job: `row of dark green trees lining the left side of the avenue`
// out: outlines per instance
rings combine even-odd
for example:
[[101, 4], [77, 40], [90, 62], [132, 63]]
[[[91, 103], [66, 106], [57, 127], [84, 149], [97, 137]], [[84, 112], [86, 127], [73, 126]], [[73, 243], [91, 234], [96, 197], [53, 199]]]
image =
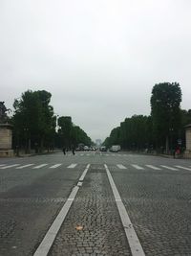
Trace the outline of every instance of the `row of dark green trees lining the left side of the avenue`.
[[86, 132], [75, 126], [71, 116], [58, 117], [51, 103], [52, 94], [46, 90], [28, 90], [14, 100], [12, 144], [14, 149], [48, 151], [53, 148], [72, 148], [83, 143], [93, 144]]

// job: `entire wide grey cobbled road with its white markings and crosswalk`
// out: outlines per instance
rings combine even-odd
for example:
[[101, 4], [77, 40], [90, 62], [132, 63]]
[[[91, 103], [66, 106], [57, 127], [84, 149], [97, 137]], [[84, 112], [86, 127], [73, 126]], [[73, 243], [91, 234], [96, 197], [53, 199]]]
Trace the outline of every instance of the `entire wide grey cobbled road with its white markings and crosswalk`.
[[190, 184], [184, 159], [0, 158], [0, 255], [191, 255]]

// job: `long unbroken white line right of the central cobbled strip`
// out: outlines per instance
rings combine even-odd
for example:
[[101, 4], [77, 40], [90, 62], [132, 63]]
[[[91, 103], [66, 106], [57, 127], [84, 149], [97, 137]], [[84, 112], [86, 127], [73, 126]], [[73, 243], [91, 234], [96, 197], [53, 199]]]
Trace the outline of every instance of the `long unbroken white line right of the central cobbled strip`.
[[120, 219], [122, 221], [123, 224], [123, 228], [125, 230], [125, 234], [127, 237], [127, 241], [129, 243], [131, 252], [132, 252], [132, 256], [145, 256], [145, 253], [142, 249], [142, 246], [138, 240], [138, 236], [136, 234], [136, 231], [134, 229], [134, 226], [132, 224], [132, 222], [130, 221], [130, 218], [127, 214], [127, 211], [125, 209], [125, 206], [120, 198], [120, 195], [117, 191], [117, 187], [116, 184], [114, 182], [114, 179], [112, 177], [112, 175], [110, 174], [110, 171], [107, 167], [107, 165], [104, 165], [105, 169], [106, 169], [106, 173], [108, 175], [109, 181], [110, 181], [110, 185], [112, 187], [113, 190], [113, 194], [114, 197], [116, 199], [116, 203], [117, 203], [117, 209], [120, 215]]

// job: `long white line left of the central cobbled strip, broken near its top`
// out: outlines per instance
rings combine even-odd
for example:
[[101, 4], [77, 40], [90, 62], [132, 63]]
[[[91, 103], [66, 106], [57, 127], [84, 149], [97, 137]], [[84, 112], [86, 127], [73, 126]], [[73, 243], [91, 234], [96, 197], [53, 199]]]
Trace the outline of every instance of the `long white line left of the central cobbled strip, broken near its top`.
[[[86, 169], [84, 171], [85, 174], [87, 173], [89, 167], [90, 167], [90, 165], [88, 165], [86, 167]], [[71, 205], [74, 201], [74, 198], [75, 198], [78, 190], [79, 190], [79, 186], [75, 186], [73, 191], [71, 192], [71, 195], [69, 196], [69, 198], [65, 202], [64, 206], [62, 207], [61, 211], [59, 212], [59, 214], [53, 221], [53, 224], [51, 225], [50, 229], [48, 230], [48, 232], [45, 235], [41, 244], [38, 246], [38, 248], [34, 252], [33, 256], [47, 256], [48, 255], [48, 253], [53, 245], [53, 241], [54, 241], [63, 221], [65, 220], [65, 218], [68, 214], [68, 211], [71, 208]]]

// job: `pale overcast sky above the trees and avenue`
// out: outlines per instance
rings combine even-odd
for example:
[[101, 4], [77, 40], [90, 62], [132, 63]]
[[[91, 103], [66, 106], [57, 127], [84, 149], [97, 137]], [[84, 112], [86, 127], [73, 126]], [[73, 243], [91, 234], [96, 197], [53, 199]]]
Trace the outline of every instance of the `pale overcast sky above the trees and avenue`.
[[180, 82], [189, 109], [190, 13], [190, 0], [0, 0], [0, 101], [47, 90], [93, 140], [149, 115], [159, 82]]

